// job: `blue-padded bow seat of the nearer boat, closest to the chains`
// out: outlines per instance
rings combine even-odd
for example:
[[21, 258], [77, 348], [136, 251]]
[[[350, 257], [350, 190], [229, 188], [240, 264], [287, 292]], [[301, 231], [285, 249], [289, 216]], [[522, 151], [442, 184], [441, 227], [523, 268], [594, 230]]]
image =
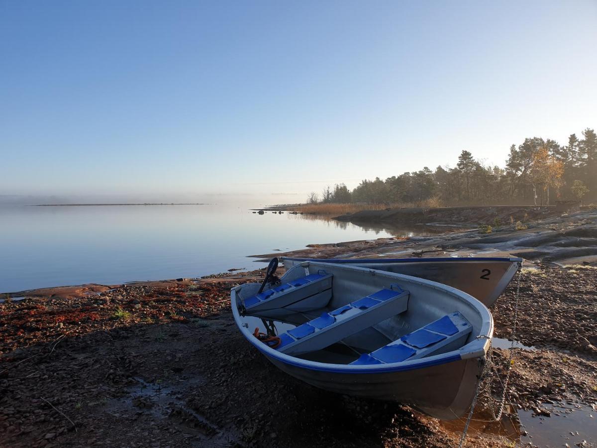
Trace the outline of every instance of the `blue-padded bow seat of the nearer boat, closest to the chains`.
[[389, 364], [416, 360], [461, 348], [473, 327], [460, 312], [427, 324], [371, 353], [364, 353], [350, 364]]

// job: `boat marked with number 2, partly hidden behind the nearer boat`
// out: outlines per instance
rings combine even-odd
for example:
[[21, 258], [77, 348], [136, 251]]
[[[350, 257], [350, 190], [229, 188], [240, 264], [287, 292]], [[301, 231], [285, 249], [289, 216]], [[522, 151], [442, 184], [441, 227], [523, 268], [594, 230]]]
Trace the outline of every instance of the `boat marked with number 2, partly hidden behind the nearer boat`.
[[282, 257], [286, 269], [304, 261], [341, 263], [425, 278], [460, 289], [491, 306], [522, 265], [517, 257], [313, 259]]

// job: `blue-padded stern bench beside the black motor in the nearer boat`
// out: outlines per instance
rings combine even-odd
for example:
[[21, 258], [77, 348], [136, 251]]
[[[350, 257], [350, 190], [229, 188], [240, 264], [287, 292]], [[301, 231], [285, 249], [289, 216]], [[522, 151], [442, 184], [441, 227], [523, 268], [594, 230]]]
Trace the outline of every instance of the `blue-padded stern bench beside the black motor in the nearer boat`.
[[279, 312], [279, 309], [300, 312], [324, 308], [332, 296], [332, 277], [332, 274], [319, 271], [254, 294], [244, 299], [245, 312], [260, 316]]

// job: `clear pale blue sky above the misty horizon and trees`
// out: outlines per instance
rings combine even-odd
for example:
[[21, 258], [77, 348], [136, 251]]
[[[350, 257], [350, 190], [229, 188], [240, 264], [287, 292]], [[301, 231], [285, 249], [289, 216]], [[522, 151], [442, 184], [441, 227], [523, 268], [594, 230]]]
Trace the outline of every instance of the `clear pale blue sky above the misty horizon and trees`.
[[503, 165], [597, 127], [596, 55], [595, 0], [0, 0], [0, 194], [276, 203]]

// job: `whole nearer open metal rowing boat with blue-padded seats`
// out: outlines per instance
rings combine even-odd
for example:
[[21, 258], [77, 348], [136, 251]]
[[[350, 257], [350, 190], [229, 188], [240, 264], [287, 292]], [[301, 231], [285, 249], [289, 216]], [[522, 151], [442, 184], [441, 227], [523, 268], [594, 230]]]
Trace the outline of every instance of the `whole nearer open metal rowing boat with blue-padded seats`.
[[466, 413], [493, 318], [463, 291], [423, 278], [303, 261], [231, 291], [239, 330], [275, 366], [313, 386]]

